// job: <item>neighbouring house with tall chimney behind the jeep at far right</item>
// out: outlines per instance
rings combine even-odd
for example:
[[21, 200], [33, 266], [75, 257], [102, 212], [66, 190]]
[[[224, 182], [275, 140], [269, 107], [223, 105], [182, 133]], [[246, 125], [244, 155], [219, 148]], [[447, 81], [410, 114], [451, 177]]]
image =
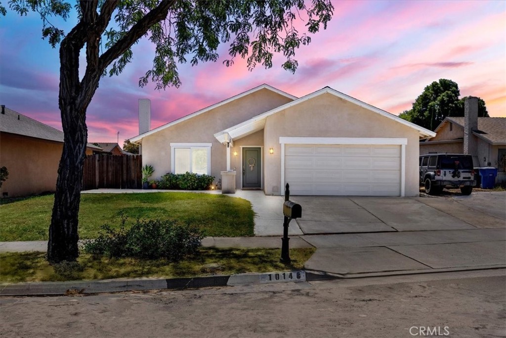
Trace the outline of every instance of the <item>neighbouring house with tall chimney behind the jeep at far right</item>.
[[506, 118], [479, 118], [478, 104], [468, 104], [465, 117], [447, 117], [436, 136], [420, 142], [420, 155], [448, 153], [473, 156], [475, 167], [495, 167], [504, 172]]

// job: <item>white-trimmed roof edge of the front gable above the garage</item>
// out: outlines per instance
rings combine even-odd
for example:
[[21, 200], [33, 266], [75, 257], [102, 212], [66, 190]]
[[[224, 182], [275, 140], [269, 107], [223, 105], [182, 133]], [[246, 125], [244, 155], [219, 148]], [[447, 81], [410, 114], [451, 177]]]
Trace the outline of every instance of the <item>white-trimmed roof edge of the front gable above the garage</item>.
[[294, 105], [297, 105], [297, 104], [300, 104], [304, 101], [307, 101], [307, 100], [310, 100], [312, 98], [315, 98], [317, 96], [320, 96], [320, 95], [323, 95], [323, 94], [331, 94], [331, 95], [334, 95], [336, 97], [339, 97], [341, 99], [344, 99], [348, 102], [351, 102], [351, 103], [354, 103], [356, 105], [359, 105], [367, 110], [370, 110], [372, 112], [375, 112], [376, 114], [379, 114], [381, 116], [384, 116], [386, 118], [389, 118], [391, 120], [394, 120], [396, 122], [399, 122], [403, 125], [406, 125], [410, 128], [413, 128], [415, 130], [418, 131], [419, 135], [420, 135], [420, 138], [427, 138], [427, 137], [432, 137], [432, 136], [436, 136], [436, 133], [433, 132], [433, 131], [430, 131], [428, 129], [425, 129], [423, 127], [420, 127], [414, 123], [411, 123], [411, 122], [408, 122], [406, 120], [403, 120], [393, 114], [390, 114], [389, 112], [385, 111], [385, 110], [382, 110], [382, 109], [379, 109], [379, 108], [376, 108], [368, 103], [365, 103], [365, 102], [362, 102], [360, 100], [357, 100], [356, 98], [353, 98], [349, 95], [346, 95], [346, 94], [343, 94], [341, 92], [338, 92], [336, 91], [335, 89], [332, 89], [330, 87], [325, 87], [325, 88], [322, 88], [316, 92], [313, 92], [311, 94], [308, 94], [306, 96], [303, 96], [297, 100], [294, 100], [294, 101], [291, 101], [291, 102], [288, 102], [286, 104], [283, 104], [277, 108], [274, 108], [274, 109], [271, 109], [269, 111], [266, 111], [264, 112], [263, 114], [260, 114], [260, 115], [257, 115], [256, 117], [254, 118], [251, 118], [247, 121], [244, 121], [242, 123], [239, 123], [238, 125], [235, 125], [233, 127], [230, 127], [228, 129], [225, 129], [223, 131], [220, 131], [218, 133], [216, 133], [214, 136], [216, 137], [216, 139], [218, 139], [218, 141], [220, 142], [226, 142], [228, 141], [230, 138], [233, 140], [234, 138], [241, 138], [241, 137], [244, 137], [244, 136], [247, 136], [249, 134], [252, 134], [254, 132], [257, 132], [259, 130], [262, 130], [265, 126], [265, 120], [268, 116], [271, 116], [273, 114], [276, 114], [277, 112], [281, 111], [281, 110], [284, 110], [284, 109], [287, 109], [291, 106], [294, 106]]

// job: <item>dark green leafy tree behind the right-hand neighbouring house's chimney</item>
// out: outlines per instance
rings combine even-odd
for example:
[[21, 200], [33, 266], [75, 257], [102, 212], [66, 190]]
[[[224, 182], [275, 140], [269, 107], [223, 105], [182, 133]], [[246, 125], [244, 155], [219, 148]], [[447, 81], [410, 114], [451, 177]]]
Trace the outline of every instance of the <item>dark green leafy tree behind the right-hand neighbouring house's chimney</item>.
[[[447, 79], [434, 81], [425, 87], [413, 102], [409, 110], [404, 110], [399, 117], [421, 127], [435, 130], [446, 117], [464, 116], [464, 100], [459, 99], [458, 85]], [[485, 101], [478, 98], [478, 116], [488, 117]]]

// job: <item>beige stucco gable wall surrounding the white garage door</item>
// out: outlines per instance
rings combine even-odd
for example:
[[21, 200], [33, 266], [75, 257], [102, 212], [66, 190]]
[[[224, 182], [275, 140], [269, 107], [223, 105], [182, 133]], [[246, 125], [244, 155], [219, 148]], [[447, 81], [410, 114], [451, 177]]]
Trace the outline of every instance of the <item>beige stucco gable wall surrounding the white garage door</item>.
[[264, 192], [281, 194], [280, 136], [291, 137], [402, 137], [406, 145], [406, 196], [418, 196], [418, 131], [368, 109], [323, 94], [267, 118], [264, 146], [275, 156], [264, 156]]

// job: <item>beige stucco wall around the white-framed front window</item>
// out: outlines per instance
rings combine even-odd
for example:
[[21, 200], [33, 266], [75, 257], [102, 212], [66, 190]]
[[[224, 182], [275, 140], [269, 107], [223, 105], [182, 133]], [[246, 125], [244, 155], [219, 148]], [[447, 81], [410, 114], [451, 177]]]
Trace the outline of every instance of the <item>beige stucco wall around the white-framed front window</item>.
[[[214, 134], [290, 101], [285, 96], [262, 89], [160, 130], [142, 139], [142, 163], [152, 165], [155, 170], [153, 178], [159, 178], [171, 172], [171, 142], [212, 143], [211, 175], [218, 180], [221, 176], [220, 172], [227, 170], [226, 147], [216, 140]], [[238, 149], [240, 144], [247, 144], [244, 142], [255, 143], [261, 139], [259, 135], [248, 137], [249, 141], [245, 138], [237, 143], [234, 142], [234, 147]], [[239, 150], [237, 152], [240, 154]], [[240, 163], [235, 161], [238, 160], [233, 159], [232, 156], [231, 167], [237, 167], [239, 170]], [[240, 180], [239, 173], [237, 179]]]

